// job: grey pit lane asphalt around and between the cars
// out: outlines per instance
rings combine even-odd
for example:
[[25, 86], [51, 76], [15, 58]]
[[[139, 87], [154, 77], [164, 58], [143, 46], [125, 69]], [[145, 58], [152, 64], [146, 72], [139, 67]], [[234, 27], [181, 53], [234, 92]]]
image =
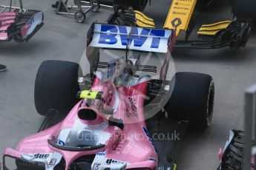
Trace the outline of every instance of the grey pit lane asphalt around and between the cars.
[[[152, 1], [145, 13], [155, 18], [161, 27], [170, 2]], [[36, 113], [33, 101], [36, 72], [42, 61], [79, 62], [91, 23], [105, 22], [111, 13], [108, 10], [89, 13], [85, 24], [78, 24], [73, 16], [57, 16], [50, 7], [52, 3], [50, 0], [24, 0], [26, 9], [45, 13], [45, 26], [28, 43], [0, 43], [0, 63], [7, 65], [7, 72], [0, 72], [1, 152], [7, 146], [15, 148], [23, 137], [36, 133], [42, 123], [43, 117]], [[198, 24], [232, 17], [227, 2], [222, 0], [195, 16]], [[245, 49], [174, 50], [177, 71], [209, 74], [216, 88], [212, 126], [206, 132], [186, 135], [177, 159], [178, 169], [217, 169], [217, 153], [225, 145], [229, 130], [243, 129], [243, 92], [256, 83], [255, 42], [254, 33]]]

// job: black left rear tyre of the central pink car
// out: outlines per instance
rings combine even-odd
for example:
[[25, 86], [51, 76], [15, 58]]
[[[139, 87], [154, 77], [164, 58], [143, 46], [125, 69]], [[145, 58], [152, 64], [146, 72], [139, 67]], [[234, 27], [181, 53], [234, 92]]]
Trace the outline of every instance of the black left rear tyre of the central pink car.
[[36, 75], [34, 99], [40, 115], [68, 113], [77, 102], [79, 64], [44, 61]]

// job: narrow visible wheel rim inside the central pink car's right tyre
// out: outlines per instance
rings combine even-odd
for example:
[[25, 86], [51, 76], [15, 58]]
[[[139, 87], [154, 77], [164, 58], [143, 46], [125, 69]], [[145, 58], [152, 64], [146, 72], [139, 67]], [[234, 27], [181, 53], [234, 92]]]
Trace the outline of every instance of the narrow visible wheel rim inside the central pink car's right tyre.
[[211, 87], [209, 89], [208, 103], [207, 103], [207, 124], [211, 124], [212, 116], [214, 110], [214, 88], [213, 82], [211, 81]]

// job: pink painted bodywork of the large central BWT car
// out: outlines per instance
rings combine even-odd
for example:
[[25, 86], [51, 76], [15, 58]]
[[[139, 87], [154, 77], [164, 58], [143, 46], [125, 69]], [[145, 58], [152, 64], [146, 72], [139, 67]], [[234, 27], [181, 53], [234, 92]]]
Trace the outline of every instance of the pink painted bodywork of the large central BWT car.
[[[106, 90], [108, 91], [109, 89], [111, 89], [111, 91], [113, 90], [114, 92], [114, 86], [110, 86], [110, 84], [111, 83], [109, 83], [108, 81], [103, 84], [100, 84], [100, 78], [97, 77], [94, 81], [92, 90], [106, 92]], [[9, 155], [12, 157], [21, 157], [21, 154], [29, 154], [31, 152], [58, 152], [62, 154], [62, 156], [64, 157], [66, 162], [65, 169], [67, 170], [68, 166], [70, 166], [70, 163], [72, 163], [73, 160], [76, 160], [76, 158], [81, 157], [83, 155], [96, 154], [97, 152], [105, 150], [106, 158], [122, 160], [127, 162], [128, 166], [126, 166], [126, 169], [154, 169], [157, 166], [157, 152], [156, 149], [154, 149], [154, 146], [152, 145], [148, 136], [142, 129], [143, 127], [146, 127], [145, 120], [143, 118], [143, 103], [145, 100], [143, 98], [143, 95], [145, 95], [147, 89], [147, 82], [142, 82], [135, 86], [130, 86], [130, 88], [122, 86], [116, 87], [116, 89], [118, 91], [118, 94], [123, 95], [119, 95], [120, 102], [116, 114], [114, 114], [114, 118], [122, 118], [125, 126], [123, 130], [119, 129], [116, 126], [108, 126], [104, 129], [105, 132], [111, 134], [111, 137], [109, 137], [108, 141], [106, 143], [103, 143], [105, 144], [105, 148], [88, 152], [70, 152], [61, 149], [56, 149], [53, 146], [50, 146], [49, 143], [47, 143], [48, 139], [57, 138], [62, 129], [71, 129], [73, 127], [74, 122], [76, 120], [79, 120], [77, 113], [80, 109], [92, 109], [94, 112], [98, 114], [96, 120], [79, 120], [82, 123], [93, 126], [104, 121], [108, 121], [105, 118], [102, 118], [102, 115], [99, 113], [99, 110], [96, 108], [95, 105], [88, 107], [85, 105], [86, 100], [82, 100], [79, 103], [77, 103], [76, 106], [73, 107], [68, 116], [65, 118], [65, 120], [62, 120], [61, 123], [58, 123], [57, 125], [51, 127], [50, 129], [46, 129], [43, 132], [39, 132], [36, 135], [31, 135], [30, 137], [24, 138], [19, 143], [17, 151], [14, 151], [13, 149], [5, 149], [4, 155]], [[130, 100], [131, 98], [133, 98], [134, 101], [137, 101], [136, 106], [138, 117], [136, 118], [128, 118], [128, 116], [125, 115], [124, 110], [127, 108], [125, 106], [125, 103], [123, 102], [129, 102], [129, 98]], [[113, 98], [111, 100], [109, 107], [113, 107], [114, 103], [116, 103], [116, 98]], [[136, 122], [133, 119], [136, 119]], [[118, 143], [116, 149], [113, 149], [114, 143]]]

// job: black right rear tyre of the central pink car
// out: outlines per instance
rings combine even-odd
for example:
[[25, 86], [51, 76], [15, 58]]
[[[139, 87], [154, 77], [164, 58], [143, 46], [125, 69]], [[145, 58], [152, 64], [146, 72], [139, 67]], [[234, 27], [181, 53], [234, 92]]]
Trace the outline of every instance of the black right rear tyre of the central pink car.
[[210, 75], [178, 72], [165, 106], [168, 118], [188, 120], [192, 129], [207, 129], [214, 109], [214, 81]]

